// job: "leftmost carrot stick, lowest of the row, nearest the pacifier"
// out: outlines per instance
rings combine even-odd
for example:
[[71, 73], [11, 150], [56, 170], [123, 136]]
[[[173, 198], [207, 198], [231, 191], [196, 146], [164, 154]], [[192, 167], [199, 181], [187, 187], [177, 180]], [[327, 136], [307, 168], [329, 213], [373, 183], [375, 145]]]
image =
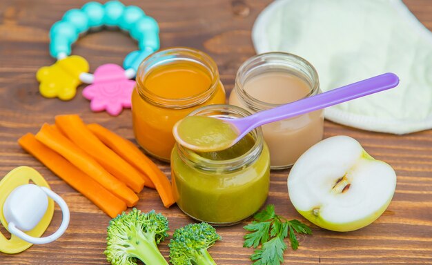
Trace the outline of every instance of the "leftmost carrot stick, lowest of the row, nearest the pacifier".
[[37, 141], [35, 135], [28, 133], [18, 139], [19, 145], [28, 153], [36, 157], [42, 164], [59, 176], [67, 184], [104, 211], [111, 218], [126, 210], [126, 204], [112, 195], [101, 184], [83, 173], [61, 155]]

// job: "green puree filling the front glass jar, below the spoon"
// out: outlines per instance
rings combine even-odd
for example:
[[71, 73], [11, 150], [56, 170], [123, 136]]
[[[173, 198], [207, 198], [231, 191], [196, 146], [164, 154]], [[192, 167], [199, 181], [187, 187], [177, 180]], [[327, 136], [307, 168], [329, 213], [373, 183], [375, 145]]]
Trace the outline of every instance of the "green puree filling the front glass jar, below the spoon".
[[[246, 135], [226, 150], [195, 155], [201, 159], [226, 161], [244, 155], [254, 144], [255, 139]], [[233, 171], [226, 170], [224, 163], [215, 170], [190, 166], [179, 157], [175, 146], [171, 168], [177, 205], [184, 213], [200, 221], [235, 224], [259, 210], [268, 195], [270, 155], [266, 144], [252, 164]]]

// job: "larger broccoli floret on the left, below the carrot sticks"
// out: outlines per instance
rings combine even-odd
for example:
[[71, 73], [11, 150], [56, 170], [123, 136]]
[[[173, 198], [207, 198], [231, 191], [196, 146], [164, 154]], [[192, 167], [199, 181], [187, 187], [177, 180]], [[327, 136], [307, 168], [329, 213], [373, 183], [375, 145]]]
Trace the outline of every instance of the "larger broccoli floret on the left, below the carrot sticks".
[[146, 265], [168, 265], [157, 248], [168, 237], [168, 219], [164, 215], [133, 208], [112, 219], [107, 230], [104, 254], [111, 264], [137, 265], [140, 259]]

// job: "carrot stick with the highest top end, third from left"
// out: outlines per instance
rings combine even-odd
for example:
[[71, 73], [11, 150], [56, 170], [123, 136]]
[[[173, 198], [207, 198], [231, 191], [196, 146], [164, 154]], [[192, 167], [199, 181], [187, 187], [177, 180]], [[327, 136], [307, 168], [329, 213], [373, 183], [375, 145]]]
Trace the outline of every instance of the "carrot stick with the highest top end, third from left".
[[56, 116], [55, 125], [70, 141], [88, 153], [135, 193], [140, 193], [144, 188], [144, 178], [141, 177], [141, 173], [93, 135], [78, 115]]

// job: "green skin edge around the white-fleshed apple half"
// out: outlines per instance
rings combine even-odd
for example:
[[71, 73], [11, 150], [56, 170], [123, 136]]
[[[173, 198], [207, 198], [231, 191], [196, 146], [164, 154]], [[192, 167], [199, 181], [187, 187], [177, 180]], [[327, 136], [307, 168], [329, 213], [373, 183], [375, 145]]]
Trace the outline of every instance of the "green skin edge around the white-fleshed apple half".
[[[373, 161], [374, 163], [382, 163], [382, 164], [385, 164], [386, 166], [388, 166], [389, 168], [391, 168], [391, 166], [389, 166], [389, 164], [386, 164], [384, 161], [380, 161], [380, 160], [373, 158], [371, 155], [366, 153], [366, 151], [364, 149], [362, 149], [362, 155], [361, 155], [360, 159]], [[393, 168], [391, 168], [391, 170], [393, 170]], [[393, 170], [393, 172], [394, 172], [394, 170]], [[288, 191], [289, 191], [289, 186], [288, 186]], [[294, 207], [297, 210], [297, 212], [300, 213], [300, 215], [302, 215], [304, 218], [308, 219], [309, 222], [315, 224], [316, 226], [319, 226], [319, 227], [327, 229], [327, 230], [333, 230], [336, 232], [348, 232], [348, 231], [353, 231], [353, 230], [357, 230], [360, 228], [364, 228], [365, 226], [368, 226], [369, 224], [372, 224], [373, 222], [375, 222], [375, 220], [378, 219], [382, 215], [382, 213], [384, 213], [386, 208], [389, 206], [389, 204], [391, 203], [391, 200], [393, 199], [393, 195], [394, 195], [394, 190], [393, 190], [392, 195], [389, 197], [389, 199], [387, 199], [387, 201], [378, 210], [376, 210], [374, 213], [371, 213], [371, 215], [368, 215], [362, 219], [357, 219], [353, 222], [344, 222], [344, 223], [328, 222], [325, 219], [322, 219], [322, 217], [320, 216], [319, 210], [317, 212], [315, 212], [313, 209], [301, 210], [301, 209], [295, 207], [295, 205], [294, 205]]]

